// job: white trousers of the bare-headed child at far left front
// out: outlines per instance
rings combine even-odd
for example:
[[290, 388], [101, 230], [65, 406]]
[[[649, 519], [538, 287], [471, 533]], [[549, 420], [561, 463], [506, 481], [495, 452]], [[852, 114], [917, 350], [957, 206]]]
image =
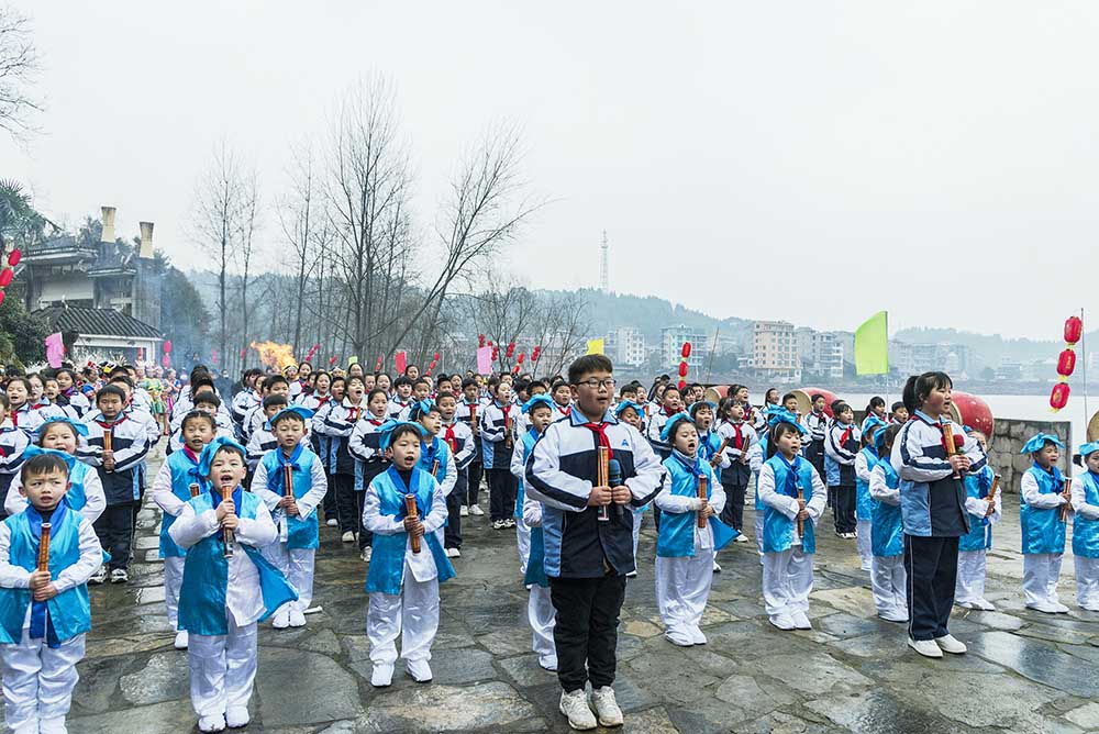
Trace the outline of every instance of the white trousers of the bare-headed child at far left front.
[[12, 731], [37, 734], [38, 722], [65, 720], [80, 679], [76, 664], [84, 659], [82, 634], [51, 649], [45, 640], [31, 640], [30, 629], [24, 629], [18, 645], [0, 645], [0, 659], [4, 722]]

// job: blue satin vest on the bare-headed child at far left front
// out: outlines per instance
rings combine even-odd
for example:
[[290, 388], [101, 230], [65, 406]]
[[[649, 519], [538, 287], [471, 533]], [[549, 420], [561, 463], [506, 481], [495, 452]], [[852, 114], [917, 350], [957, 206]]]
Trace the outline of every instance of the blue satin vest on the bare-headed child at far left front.
[[[82, 516], [58, 504], [51, 518], [49, 576], [58, 574], [80, 559], [80, 521]], [[8, 518], [10, 545], [8, 563], [34, 571], [38, 567], [38, 543], [42, 518], [33, 507]], [[18, 645], [23, 637], [23, 620], [32, 603], [30, 589], [0, 589], [0, 643]], [[49, 623], [59, 642], [91, 630], [91, 605], [88, 585], [73, 587], [46, 602]]]

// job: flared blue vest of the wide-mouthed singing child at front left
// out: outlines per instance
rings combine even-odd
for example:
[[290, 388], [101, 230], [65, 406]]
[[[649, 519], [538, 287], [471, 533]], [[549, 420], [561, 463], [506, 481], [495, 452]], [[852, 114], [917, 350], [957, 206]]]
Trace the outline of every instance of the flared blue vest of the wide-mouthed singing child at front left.
[[[215, 499], [220, 503], [220, 497], [215, 498], [213, 493], [207, 491], [187, 500], [187, 503], [195, 510], [195, 514], [202, 514], [217, 507]], [[240, 487], [233, 492], [236, 514], [242, 519], [255, 520], [259, 502], [258, 497], [242, 491]], [[222, 537], [220, 529], [206, 536], [188, 548], [187, 559], [184, 561], [184, 580], [179, 588], [179, 629], [195, 635], [229, 634], [229, 624], [225, 620], [229, 559], [225, 558]], [[236, 544], [235, 552], [242, 549], [259, 572], [259, 593], [265, 609], [259, 621], [263, 622], [282, 604], [296, 600], [298, 592], [282, 572], [259, 554], [258, 548]]]

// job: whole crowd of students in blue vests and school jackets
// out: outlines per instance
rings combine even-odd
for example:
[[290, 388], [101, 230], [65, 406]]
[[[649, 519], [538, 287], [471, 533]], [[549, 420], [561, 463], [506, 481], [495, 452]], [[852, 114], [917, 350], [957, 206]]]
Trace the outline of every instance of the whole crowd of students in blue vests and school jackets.
[[[988, 437], [947, 418], [951, 388], [942, 372], [913, 376], [902, 401], [887, 410], [875, 398], [856, 425], [850, 404], [822, 396], [799, 415], [796, 397], [777, 390], [754, 407], [743, 386], [714, 403], [700, 385], [618, 385], [601, 355], [550, 380], [430, 377], [414, 366], [396, 379], [360, 365], [248, 369], [233, 396], [199, 366], [158, 421], [134, 367], [9, 375], [5, 721], [65, 731], [90, 629], [87, 585], [129, 580], [162, 438], [167, 456], [151, 483], [165, 607], [175, 646], [188, 650], [203, 732], [248, 723], [257, 624], [307, 624], [322, 525], [367, 564], [371, 683], [389, 686], [399, 657], [413, 680], [431, 680], [439, 585], [455, 574], [463, 520], [485, 514], [482, 481], [491, 529], [515, 532], [532, 649], [557, 672], [574, 729], [622, 723], [618, 619], [648, 514], [671, 644], [707, 643], [701, 619], [730, 543], [755, 542], [770, 623], [811, 629], [813, 558], [831, 509], [835, 535], [855, 541], [877, 614], [906, 624], [921, 655], [964, 653], [951, 609], [993, 609], [985, 554], [1001, 504]], [[1068, 611], [1056, 583], [1072, 518], [1077, 603], [1099, 611], [1099, 443], [1080, 447], [1070, 483], [1056, 466], [1063, 449], [1046, 434], [1023, 447], [1033, 460], [1020, 497], [1023, 591], [1031, 609]]]

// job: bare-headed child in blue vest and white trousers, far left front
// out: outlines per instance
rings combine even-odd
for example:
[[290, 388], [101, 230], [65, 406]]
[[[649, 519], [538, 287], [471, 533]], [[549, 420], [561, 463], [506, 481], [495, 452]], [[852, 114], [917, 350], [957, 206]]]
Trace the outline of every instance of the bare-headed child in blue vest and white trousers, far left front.
[[102, 549], [88, 519], [63, 501], [65, 458], [27, 458], [20, 477], [29, 505], [0, 523], [4, 723], [15, 732], [64, 732], [91, 629], [87, 583]]

